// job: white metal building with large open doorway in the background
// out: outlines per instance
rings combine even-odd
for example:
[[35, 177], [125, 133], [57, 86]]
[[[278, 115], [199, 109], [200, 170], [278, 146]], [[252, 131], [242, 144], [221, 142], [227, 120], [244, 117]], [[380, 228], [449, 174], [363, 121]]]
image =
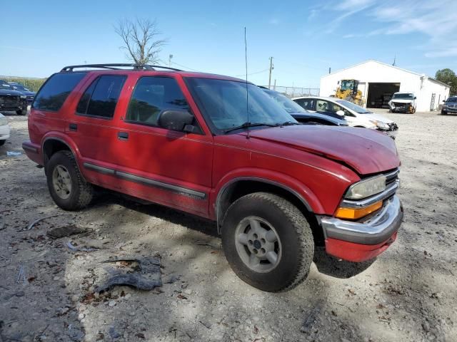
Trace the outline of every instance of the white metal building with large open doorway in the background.
[[360, 83], [363, 100], [368, 108], [388, 108], [388, 100], [397, 91], [414, 93], [418, 111], [438, 110], [449, 96], [449, 86], [424, 74], [390, 64], [369, 60], [321, 77], [321, 96], [334, 95], [338, 82], [355, 79]]

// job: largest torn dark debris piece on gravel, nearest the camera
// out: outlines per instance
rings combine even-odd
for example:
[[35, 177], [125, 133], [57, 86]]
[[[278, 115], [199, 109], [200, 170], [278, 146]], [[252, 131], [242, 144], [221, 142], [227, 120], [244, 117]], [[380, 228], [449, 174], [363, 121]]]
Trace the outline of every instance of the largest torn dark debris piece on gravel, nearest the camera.
[[95, 292], [106, 291], [114, 286], [131, 286], [139, 290], [150, 291], [162, 286], [160, 259], [157, 258], [116, 258], [103, 261], [105, 263], [119, 262], [127, 266], [137, 263], [137, 267], [129, 267], [129, 271], [114, 271], [104, 285], [97, 286]]

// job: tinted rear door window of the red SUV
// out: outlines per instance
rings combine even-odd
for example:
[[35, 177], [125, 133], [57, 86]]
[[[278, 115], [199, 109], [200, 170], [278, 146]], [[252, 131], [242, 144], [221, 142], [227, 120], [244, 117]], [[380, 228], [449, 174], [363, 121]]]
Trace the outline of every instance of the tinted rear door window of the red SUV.
[[126, 76], [104, 75], [96, 78], [86, 89], [76, 107], [79, 115], [111, 119]]

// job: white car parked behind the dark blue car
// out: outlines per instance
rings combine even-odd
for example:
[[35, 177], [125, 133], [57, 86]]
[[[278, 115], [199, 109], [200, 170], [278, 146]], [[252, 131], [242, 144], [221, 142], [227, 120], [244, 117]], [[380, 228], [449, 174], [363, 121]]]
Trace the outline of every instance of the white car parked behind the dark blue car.
[[398, 125], [392, 120], [385, 118], [380, 114], [373, 113], [348, 100], [318, 96], [306, 96], [293, 98], [292, 100], [301, 105], [301, 107], [312, 112], [329, 115], [333, 118], [344, 115], [344, 118], [352, 127], [379, 130], [393, 139], [395, 139], [398, 131]]

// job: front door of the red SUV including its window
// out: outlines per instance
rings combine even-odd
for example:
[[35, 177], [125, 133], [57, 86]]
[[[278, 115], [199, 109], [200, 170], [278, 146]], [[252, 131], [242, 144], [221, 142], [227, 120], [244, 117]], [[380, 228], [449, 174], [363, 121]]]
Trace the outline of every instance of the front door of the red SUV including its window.
[[118, 186], [152, 202], [208, 214], [213, 138], [196, 119], [196, 133], [160, 128], [157, 118], [163, 110], [192, 112], [176, 78], [139, 77], [119, 120]]

